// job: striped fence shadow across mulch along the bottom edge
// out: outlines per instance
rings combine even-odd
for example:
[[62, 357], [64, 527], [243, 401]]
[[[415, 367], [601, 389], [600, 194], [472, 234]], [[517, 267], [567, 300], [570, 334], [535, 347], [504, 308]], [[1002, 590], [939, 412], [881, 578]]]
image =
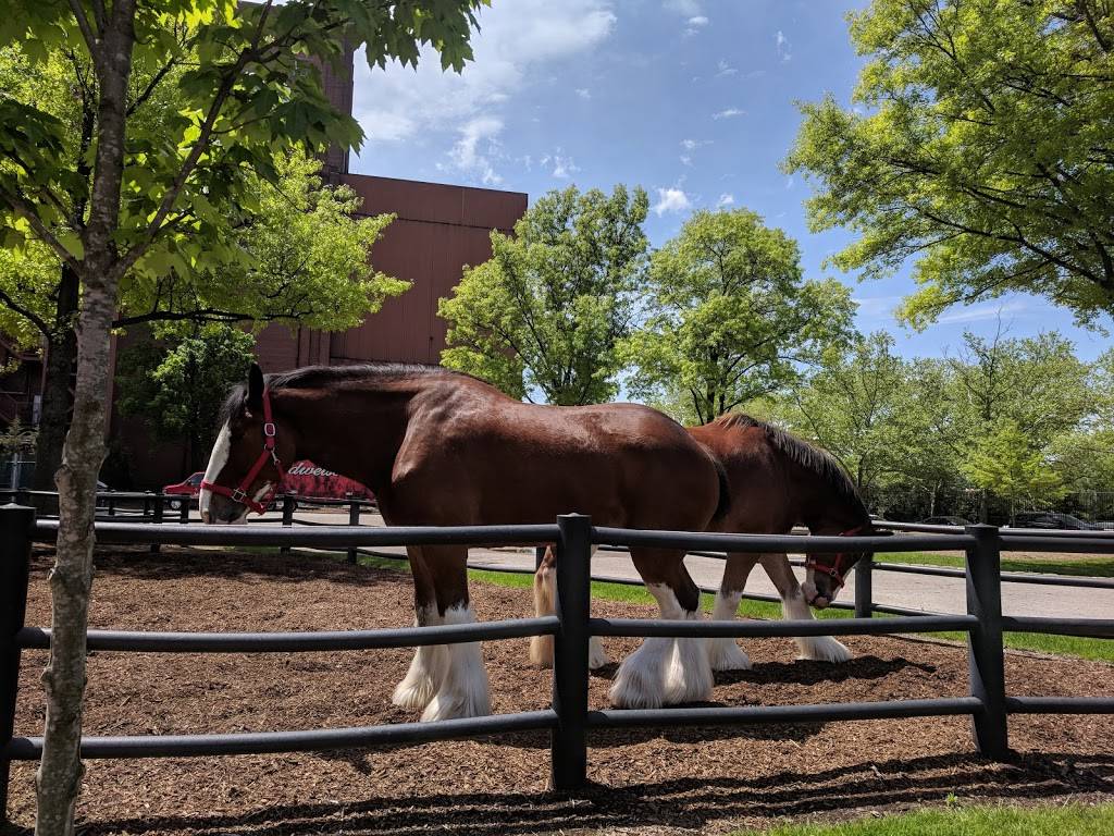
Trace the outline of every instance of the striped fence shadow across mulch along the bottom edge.
[[[710, 823], [760, 823], [828, 814], [897, 810], [952, 797], [1039, 801], [1114, 791], [1114, 756], [1016, 756], [991, 764], [974, 755], [863, 761], [809, 775], [781, 772], [750, 781], [694, 778], [626, 787], [589, 786], [576, 794], [480, 793], [302, 804], [234, 816], [86, 822], [84, 834], [374, 834], [437, 830], [449, 836], [559, 834], [610, 828], [701, 830]], [[13, 830], [12, 833], [29, 833]]]

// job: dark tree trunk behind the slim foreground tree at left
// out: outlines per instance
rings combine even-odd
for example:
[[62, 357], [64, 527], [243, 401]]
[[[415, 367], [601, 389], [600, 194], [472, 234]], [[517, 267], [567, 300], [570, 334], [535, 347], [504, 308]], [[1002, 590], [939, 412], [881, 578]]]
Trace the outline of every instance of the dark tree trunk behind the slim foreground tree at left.
[[62, 445], [66, 443], [66, 428], [69, 426], [72, 406], [70, 378], [77, 360], [74, 315], [78, 309], [78, 278], [74, 271], [68, 266], [62, 268], [55, 337], [48, 343], [42, 381], [42, 412], [35, 446], [35, 479], [31, 483], [35, 490], [53, 490], [55, 473], [62, 463]]

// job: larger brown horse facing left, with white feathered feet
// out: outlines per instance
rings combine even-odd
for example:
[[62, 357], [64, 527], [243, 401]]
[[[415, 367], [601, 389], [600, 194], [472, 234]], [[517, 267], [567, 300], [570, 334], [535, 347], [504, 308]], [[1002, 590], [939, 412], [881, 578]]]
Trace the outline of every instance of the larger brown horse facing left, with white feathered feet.
[[[725, 507], [722, 468], [684, 428], [635, 405], [543, 407], [438, 367], [311, 367], [264, 379], [225, 404], [201, 495], [208, 523], [266, 505], [282, 463], [307, 458], [358, 479], [389, 525], [553, 523], [704, 531]], [[419, 625], [475, 621], [463, 546], [408, 548]], [[662, 615], [700, 616], [677, 550], [633, 548]], [[707, 699], [703, 642], [648, 640], [620, 667], [619, 706]], [[423, 720], [489, 711], [478, 643], [420, 648], [394, 691]]]

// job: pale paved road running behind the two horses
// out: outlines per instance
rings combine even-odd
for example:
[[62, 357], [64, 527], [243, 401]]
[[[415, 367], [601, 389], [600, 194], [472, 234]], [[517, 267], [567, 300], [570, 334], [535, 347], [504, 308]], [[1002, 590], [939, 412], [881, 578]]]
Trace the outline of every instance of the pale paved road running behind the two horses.
[[[196, 512], [194, 512], [196, 516]], [[296, 519], [323, 525], [344, 525], [348, 512], [300, 511]], [[274, 514], [256, 522], [257, 525], [277, 525]], [[378, 514], [364, 514], [364, 525], [382, 525]], [[404, 554], [401, 547], [383, 548], [384, 552]], [[531, 550], [471, 550], [471, 562], [477, 566], [524, 568], [534, 566]], [[723, 563], [707, 557], [685, 558], [685, 565], [700, 586], [714, 590], [723, 575]], [[602, 577], [637, 579], [631, 558], [625, 554], [598, 552], [593, 560], [593, 574]], [[803, 570], [797, 573], [802, 576]], [[880, 604], [905, 606], [935, 612], [966, 612], [966, 592], [961, 577], [935, 577], [908, 573], [876, 571], [874, 601]], [[761, 567], [755, 567], [746, 586], [747, 592], [775, 595], [776, 590]], [[854, 601], [854, 577], [840, 593], [840, 600]], [[1006, 583], [1003, 585], [1003, 610], [1009, 615], [1047, 615], [1056, 618], [1114, 619], [1114, 590], [1079, 590], [1069, 586], [1038, 586], [1036, 584]]]

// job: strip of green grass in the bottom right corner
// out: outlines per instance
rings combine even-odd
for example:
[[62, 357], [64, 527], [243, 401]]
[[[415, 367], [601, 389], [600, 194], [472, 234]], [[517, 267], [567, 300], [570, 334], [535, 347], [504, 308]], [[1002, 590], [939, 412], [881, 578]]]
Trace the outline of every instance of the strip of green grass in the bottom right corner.
[[736, 836], [1106, 836], [1114, 805], [1094, 807], [948, 807], [838, 825], [786, 825]]

